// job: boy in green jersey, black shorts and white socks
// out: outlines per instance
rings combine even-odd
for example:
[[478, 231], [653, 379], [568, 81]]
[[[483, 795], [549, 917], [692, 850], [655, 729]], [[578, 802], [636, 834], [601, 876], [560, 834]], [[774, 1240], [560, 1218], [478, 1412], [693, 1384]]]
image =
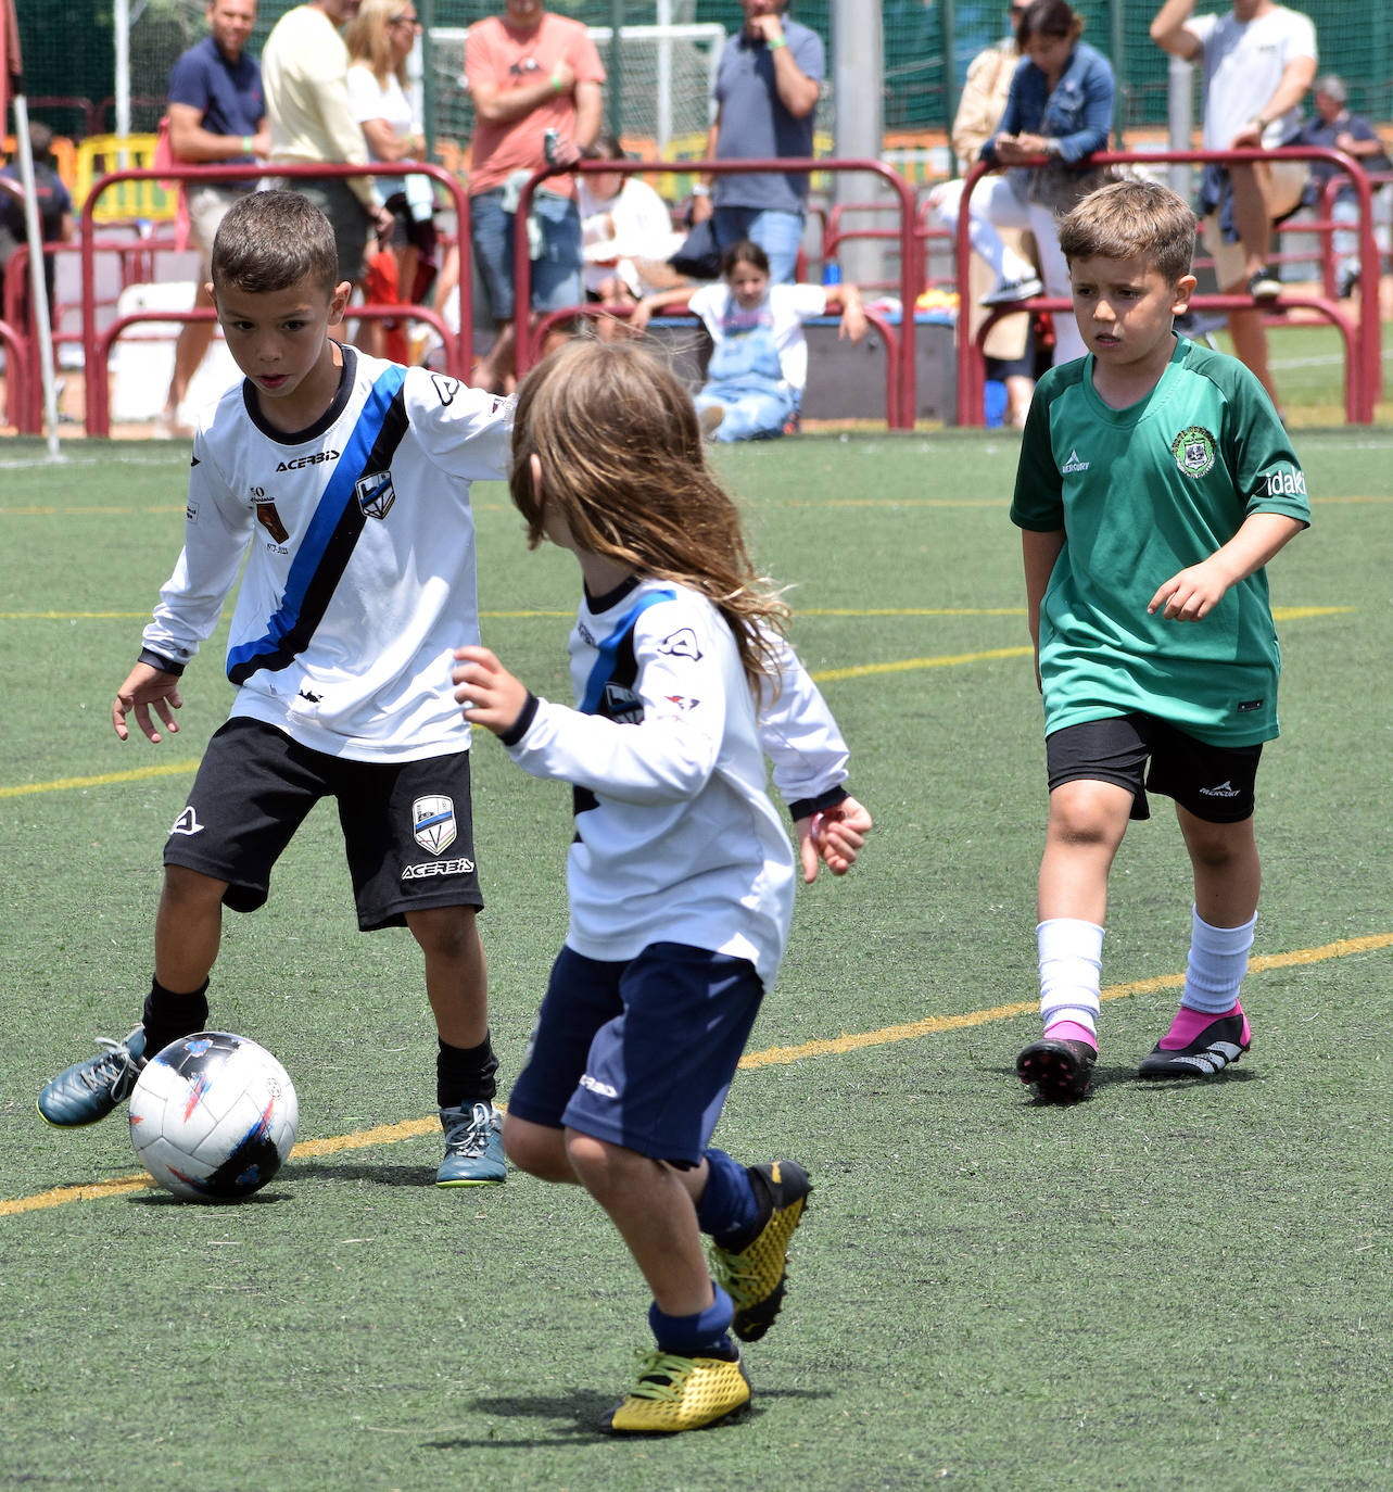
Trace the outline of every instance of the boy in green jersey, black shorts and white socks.
[[1309, 522], [1306, 483], [1257, 379], [1178, 337], [1195, 215], [1128, 181], [1062, 222], [1089, 355], [1035, 391], [1011, 519], [1044, 694], [1044, 1037], [1016, 1071], [1043, 1100], [1089, 1089], [1108, 873], [1147, 789], [1175, 801], [1195, 874], [1180, 1012], [1144, 1077], [1248, 1049], [1238, 1003], [1257, 912], [1253, 785], [1277, 736], [1280, 655], [1263, 565]]

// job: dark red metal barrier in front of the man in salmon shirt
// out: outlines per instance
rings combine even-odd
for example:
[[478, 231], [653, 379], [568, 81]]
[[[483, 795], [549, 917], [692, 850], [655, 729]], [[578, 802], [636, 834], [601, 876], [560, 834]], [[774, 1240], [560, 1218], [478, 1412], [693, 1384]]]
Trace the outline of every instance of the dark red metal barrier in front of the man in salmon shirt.
[[[899, 339], [898, 346], [893, 346], [890, 340], [886, 340], [886, 355], [890, 357], [892, 370], [895, 373], [895, 400], [887, 401], [886, 407], [886, 422], [892, 430], [913, 430], [914, 428], [914, 410], [917, 407], [917, 388], [916, 388], [916, 367], [914, 367], [914, 301], [919, 295], [919, 286], [914, 283], [914, 189], [910, 186], [902, 176], [898, 176], [889, 166], [881, 161], [871, 160], [811, 160], [811, 158], [786, 158], [786, 160], [764, 160], [764, 161], [689, 161], [689, 169], [699, 175], [740, 175], [750, 172], [777, 172], [783, 175], [801, 175], [804, 172], [870, 172], [872, 176], [880, 176], [890, 184], [892, 189], [899, 197], [899, 303], [901, 303], [901, 321], [899, 321]], [[532, 203], [532, 192], [537, 189], [537, 184], [546, 181], [547, 176], [562, 176], [570, 172], [579, 172], [582, 175], [595, 175], [597, 172], [619, 172], [625, 176], [638, 175], [641, 172], [647, 173], [662, 173], [671, 170], [670, 161], [580, 161], [576, 166], [565, 169], [546, 167], [544, 170], [535, 172], [532, 179], [522, 188], [522, 194], [518, 198], [518, 216], [516, 222], [526, 222], [528, 210]], [[541, 348], [541, 339], [538, 336], [540, 328], [531, 325], [531, 300], [532, 300], [532, 264], [528, 258], [528, 242], [525, 233], [513, 234], [513, 298], [516, 303], [516, 369], [518, 377], [521, 379], [523, 373], [537, 360], [537, 352]], [[570, 315], [577, 315], [583, 312], [583, 306], [570, 309]], [[555, 319], [559, 319], [559, 313]], [[553, 319], [553, 324], [555, 324]], [[870, 318], [868, 318], [870, 319]]]

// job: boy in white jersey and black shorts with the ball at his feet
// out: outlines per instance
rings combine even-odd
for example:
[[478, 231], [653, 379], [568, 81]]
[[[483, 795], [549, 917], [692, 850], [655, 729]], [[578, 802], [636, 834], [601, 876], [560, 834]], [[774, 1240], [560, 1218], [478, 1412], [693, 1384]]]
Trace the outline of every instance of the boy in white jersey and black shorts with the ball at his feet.
[[130, 713], [151, 742], [158, 722], [177, 731], [179, 676], [246, 557], [227, 655], [237, 695], [164, 849], [142, 1024], [48, 1083], [39, 1112], [104, 1118], [148, 1056], [207, 1024], [222, 907], [260, 907], [295, 830], [333, 797], [359, 928], [406, 924], [425, 958], [437, 1183], [497, 1183], [470, 731], [447, 685], [461, 634], [479, 637], [470, 482], [506, 474], [510, 406], [336, 342], [350, 286], [328, 219], [297, 192], [227, 213], [210, 289], [246, 380], [194, 436], [183, 551], [112, 721], [121, 740]]

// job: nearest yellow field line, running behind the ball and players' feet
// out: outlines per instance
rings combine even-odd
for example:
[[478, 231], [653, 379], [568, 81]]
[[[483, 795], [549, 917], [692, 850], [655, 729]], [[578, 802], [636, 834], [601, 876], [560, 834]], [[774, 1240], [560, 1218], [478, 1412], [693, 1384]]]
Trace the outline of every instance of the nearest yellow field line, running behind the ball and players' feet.
[[[1269, 968], [1321, 964], [1332, 958], [1348, 958], [1351, 953], [1371, 953], [1383, 947], [1393, 947], [1393, 932], [1371, 932], [1368, 937], [1339, 938], [1335, 943], [1323, 943], [1320, 947], [1299, 947], [1290, 953], [1265, 953], [1248, 964], [1248, 973], [1260, 974]], [[1102, 991], [1101, 998], [1105, 1001], [1126, 1000], [1129, 995], [1153, 994], [1157, 989], [1178, 989], [1181, 985], [1184, 985], [1184, 974], [1159, 974], [1154, 979], [1133, 979], [1128, 985], [1111, 985]], [[771, 1046], [764, 1052], [747, 1052], [740, 1059], [740, 1067], [752, 1071], [759, 1067], [805, 1062], [814, 1056], [837, 1056], [843, 1052], [855, 1052], [868, 1046], [892, 1046], [896, 1041], [911, 1041], [917, 1037], [935, 1035], [941, 1031], [962, 1031], [969, 1026], [990, 1025], [993, 1021], [1013, 1021], [1016, 1016], [1031, 1015], [1038, 1009], [1038, 1000], [1017, 1000], [1007, 1006], [971, 1010], [966, 1015], [928, 1016], [923, 1021], [910, 1021], [904, 1025], [881, 1026], [878, 1031], [843, 1034], [829, 1041]], [[324, 1140], [301, 1140], [291, 1152], [291, 1159], [303, 1161], [319, 1155], [337, 1155], [343, 1150], [364, 1150], [374, 1144], [397, 1144], [400, 1140], [413, 1140], [418, 1135], [438, 1132], [438, 1129], [440, 1120], [435, 1116], [430, 1119], [403, 1119], [400, 1123], [376, 1125], [371, 1129], [328, 1135]], [[12, 1201], [0, 1201], [0, 1217], [39, 1212], [43, 1207], [61, 1207], [66, 1203], [101, 1201], [106, 1197], [122, 1197], [127, 1192], [151, 1191], [154, 1186], [154, 1179], [143, 1171], [131, 1176], [113, 1176], [107, 1182], [92, 1182], [85, 1186], [54, 1186], [46, 1192], [36, 1192], [33, 1197], [16, 1197]]]

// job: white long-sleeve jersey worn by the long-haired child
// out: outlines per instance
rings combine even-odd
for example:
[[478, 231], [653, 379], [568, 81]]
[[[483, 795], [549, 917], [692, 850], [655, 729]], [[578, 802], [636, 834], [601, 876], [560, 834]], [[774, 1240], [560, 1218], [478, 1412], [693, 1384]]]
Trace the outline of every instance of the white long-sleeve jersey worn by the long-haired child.
[[792, 649], [762, 709], [716, 607], [640, 580], [580, 607], [570, 642], [576, 709], [529, 701], [504, 745], [535, 777], [570, 782], [576, 840], [567, 943], [634, 958], [658, 941], [747, 958], [774, 982], [793, 912], [793, 852], [767, 794], [789, 804], [840, 788], [847, 749]]

